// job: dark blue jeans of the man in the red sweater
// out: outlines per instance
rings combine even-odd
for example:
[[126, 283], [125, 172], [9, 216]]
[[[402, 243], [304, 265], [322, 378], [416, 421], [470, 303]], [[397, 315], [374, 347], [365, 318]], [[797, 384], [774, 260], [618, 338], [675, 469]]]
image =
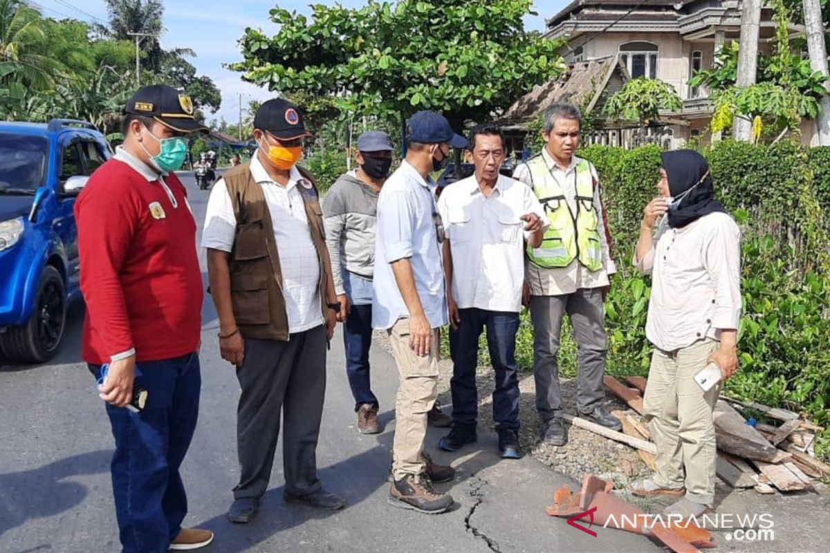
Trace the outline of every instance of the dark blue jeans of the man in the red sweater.
[[[90, 371], [97, 377], [99, 367], [90, 366]], [[196, 429], [199, 358], [192, 353], [136, 363], [135, 383], [147, 390], [144, 410], [106, 405], [115, 437], [115, 516], [124, 553], [162, 553], [188, 512], [178, 468]]]

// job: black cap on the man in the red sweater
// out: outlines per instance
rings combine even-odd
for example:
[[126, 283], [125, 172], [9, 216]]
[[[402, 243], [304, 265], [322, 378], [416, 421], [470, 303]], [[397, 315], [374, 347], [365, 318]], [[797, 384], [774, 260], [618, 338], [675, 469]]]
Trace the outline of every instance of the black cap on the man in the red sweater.
[[172, 86], [153, 85], [139, 89], [124, 106], [124, 114], [141, 115], [155, 119], [179, 133], [209, 133], [193, 117], [193, 100]]

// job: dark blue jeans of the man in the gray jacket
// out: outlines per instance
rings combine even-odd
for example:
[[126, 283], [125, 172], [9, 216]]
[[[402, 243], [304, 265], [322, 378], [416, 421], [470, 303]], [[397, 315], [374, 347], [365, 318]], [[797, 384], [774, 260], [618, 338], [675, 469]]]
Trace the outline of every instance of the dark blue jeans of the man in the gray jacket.
[[378, 398], [369, 382], [369, 348], [372, 347], [372, 304], [352, 305], [343, 325], [346, 376], [354, 395], [354, 410], [369, 403], [378, 407]]

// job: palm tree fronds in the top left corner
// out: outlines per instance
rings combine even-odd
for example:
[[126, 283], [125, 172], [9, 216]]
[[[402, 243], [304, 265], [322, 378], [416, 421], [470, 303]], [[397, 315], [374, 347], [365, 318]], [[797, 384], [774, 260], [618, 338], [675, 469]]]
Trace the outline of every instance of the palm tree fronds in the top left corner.
[[0, 88], [51, 89], [51, 75], [60, 64], [29, 48], [44, 36], [42, 21], [41, 13], [22, 0], [0, 0]]

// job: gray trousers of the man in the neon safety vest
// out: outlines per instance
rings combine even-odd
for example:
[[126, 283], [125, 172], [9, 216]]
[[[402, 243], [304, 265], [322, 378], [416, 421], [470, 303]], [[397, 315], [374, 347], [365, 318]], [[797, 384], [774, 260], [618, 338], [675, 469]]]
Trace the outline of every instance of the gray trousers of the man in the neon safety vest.
[[580, 413], [590, 413], [605, 396], [603, 376], [608, 337], [602, 289], [579, 289], [561, 296], [531, 296], [536, 410], [542, 420], [562, 416], [556, 356], [565, 313], [570, 316], [578, 347], [577, 409]]

